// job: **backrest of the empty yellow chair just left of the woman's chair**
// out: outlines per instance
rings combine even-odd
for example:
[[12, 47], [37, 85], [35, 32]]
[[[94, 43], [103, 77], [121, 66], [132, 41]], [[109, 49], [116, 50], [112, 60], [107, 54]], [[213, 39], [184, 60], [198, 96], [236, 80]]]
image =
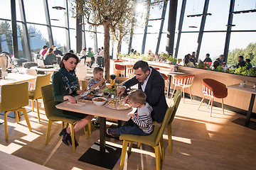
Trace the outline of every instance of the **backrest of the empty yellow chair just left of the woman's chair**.
[[33, 98], [41, 98], [41, 87], [50, 84], [50, 74], [36, 77], [36, 88]]

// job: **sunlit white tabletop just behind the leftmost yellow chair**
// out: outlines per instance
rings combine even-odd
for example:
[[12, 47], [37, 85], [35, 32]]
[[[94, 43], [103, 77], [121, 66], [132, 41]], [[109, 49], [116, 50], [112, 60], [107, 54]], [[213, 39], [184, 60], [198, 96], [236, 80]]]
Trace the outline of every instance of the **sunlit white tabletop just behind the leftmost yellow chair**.
[[[0, 80], [0, 86], [6, 84], [16, 84], [24, 81], [29, 81], [36, 79], [37, 76], [29, 75], [29, 74], [19, 74], [19, 73], [9, 73], [5, 79]], [[3, 77], [2, 77], [3, 78]]]

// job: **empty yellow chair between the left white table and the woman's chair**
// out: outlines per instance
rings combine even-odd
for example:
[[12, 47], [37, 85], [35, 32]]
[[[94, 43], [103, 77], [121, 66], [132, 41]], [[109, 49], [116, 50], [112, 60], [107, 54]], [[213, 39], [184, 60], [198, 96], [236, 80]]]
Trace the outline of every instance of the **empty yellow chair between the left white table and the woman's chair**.
[[28, 91], [28, 98], [32, 100], [32, 110], [34, 111], [34, 103], [36, 100], [36, 108], [38, 112], [38, 122], [40, 122], [40, 113], [38, 107], [38, 99], [42, 98], [41, 87], [50, 84], [50, 74], [36, 77], [36, 87], [33, 90]]

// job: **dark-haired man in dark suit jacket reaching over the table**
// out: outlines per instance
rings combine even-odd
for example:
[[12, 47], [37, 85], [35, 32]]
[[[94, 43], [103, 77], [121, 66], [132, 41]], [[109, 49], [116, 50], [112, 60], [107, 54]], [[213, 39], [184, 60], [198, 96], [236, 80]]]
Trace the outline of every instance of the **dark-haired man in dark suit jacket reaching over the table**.
[[133, 69], [136, 77], [129, 79], [122, 88], [117, 89], [117, 94], [122, 95], [125, 89], [138, 84], [139, 89], [146, 94], [146, 101], [153, 108], [151, 117], [157, 123], [161, 123], [168, 108], [164, 96], [164, 78], [156, 69], [149, 67], [149, 64], [142, 60], [136, 62]]

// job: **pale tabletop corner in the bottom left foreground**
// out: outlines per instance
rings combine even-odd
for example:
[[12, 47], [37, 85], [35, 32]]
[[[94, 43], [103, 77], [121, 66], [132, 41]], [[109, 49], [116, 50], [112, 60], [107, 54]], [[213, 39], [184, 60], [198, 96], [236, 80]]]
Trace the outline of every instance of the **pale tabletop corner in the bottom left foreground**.
[[9, 170], [50, 170], [50, 168], [30, 162], [26, 159], [16, 157], [12, 154], [7, 154], [0, 151], [0, 169], [9, 169]]

